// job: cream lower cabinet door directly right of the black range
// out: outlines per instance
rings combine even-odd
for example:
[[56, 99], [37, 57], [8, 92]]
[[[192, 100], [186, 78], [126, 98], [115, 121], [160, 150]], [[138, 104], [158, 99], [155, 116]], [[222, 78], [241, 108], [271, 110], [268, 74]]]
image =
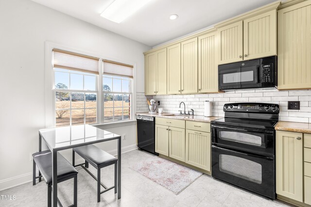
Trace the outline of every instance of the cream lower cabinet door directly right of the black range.
[[303, 202], [302, 143], [302, 133], [276, 131], [276, 193], [299, 202]]

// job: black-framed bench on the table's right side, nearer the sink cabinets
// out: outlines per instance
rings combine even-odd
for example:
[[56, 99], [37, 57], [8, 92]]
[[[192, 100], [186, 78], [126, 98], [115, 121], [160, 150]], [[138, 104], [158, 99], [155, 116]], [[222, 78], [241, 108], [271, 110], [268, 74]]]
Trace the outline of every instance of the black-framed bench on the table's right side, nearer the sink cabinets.
[[[75, 153], [85, 159], [85, 163], [75, 165]], [[97, 181], [97, 202], [101, 201], [100, 196], [106, 191], [115, 189], [115, 193], [117, 193], [117, 163], [117, 158], [98, 148], [97, 146], [94, 146], [93, 144], [75, 147], [72, 149], [72, 165], [74, 167], [81, 166], [83, 169], [86, 170], [89, 175], [91, 175]], [[83, 166], [84, 164], [85, 166]], [[89, 170], [87, 170], [88, 164], [91, 164], [94, 168], [97, 169], [97, 178]], [[112, 164], [115, 165], [114, 186], [108, 188], [101, 182], [101, 169]], [[101, 186], [104, 187], [104, 191], [101, 191]]]

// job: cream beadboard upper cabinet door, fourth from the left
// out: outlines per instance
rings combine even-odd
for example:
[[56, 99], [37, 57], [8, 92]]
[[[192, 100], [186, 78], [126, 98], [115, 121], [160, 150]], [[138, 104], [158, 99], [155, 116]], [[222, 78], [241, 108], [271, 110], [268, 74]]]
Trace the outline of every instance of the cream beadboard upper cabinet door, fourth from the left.
[[181, 93], [198, 93], [198, 38], [181, 43]]

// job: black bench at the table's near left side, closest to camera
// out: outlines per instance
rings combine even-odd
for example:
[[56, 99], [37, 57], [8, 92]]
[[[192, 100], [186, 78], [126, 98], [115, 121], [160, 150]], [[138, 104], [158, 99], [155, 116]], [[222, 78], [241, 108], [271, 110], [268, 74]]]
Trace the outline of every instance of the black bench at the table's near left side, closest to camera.
[[[33, 154], [33, 185], [35, 180], [41, 177], [48, 185], [48, 207], [52, 206], [52, 153], [50, 150], [36, 152]], [[39, 170], [39, 176], [35, 175], [36, 167]], [[41, 174], [40, 174], [41, 173]], [[77, 207], [77, 174], [78, 171], [65, 159], [59, 152], [57, 152], [57, 183], [74, 178], [73, 182], [73, 205], [70, 207]], [[57, 198], [59, 206], [62, 206]]]

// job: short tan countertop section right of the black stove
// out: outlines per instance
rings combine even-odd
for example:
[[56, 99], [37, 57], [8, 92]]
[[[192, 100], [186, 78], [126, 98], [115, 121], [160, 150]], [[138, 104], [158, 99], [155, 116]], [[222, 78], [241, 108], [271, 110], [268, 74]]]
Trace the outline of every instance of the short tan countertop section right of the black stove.
[[311, 124], [300, 123], [300, 122], [282, 122], [279, 121], [275, 127], [276, 130], [280, 131], [293, 131], [301, 133], [311, 133]]

